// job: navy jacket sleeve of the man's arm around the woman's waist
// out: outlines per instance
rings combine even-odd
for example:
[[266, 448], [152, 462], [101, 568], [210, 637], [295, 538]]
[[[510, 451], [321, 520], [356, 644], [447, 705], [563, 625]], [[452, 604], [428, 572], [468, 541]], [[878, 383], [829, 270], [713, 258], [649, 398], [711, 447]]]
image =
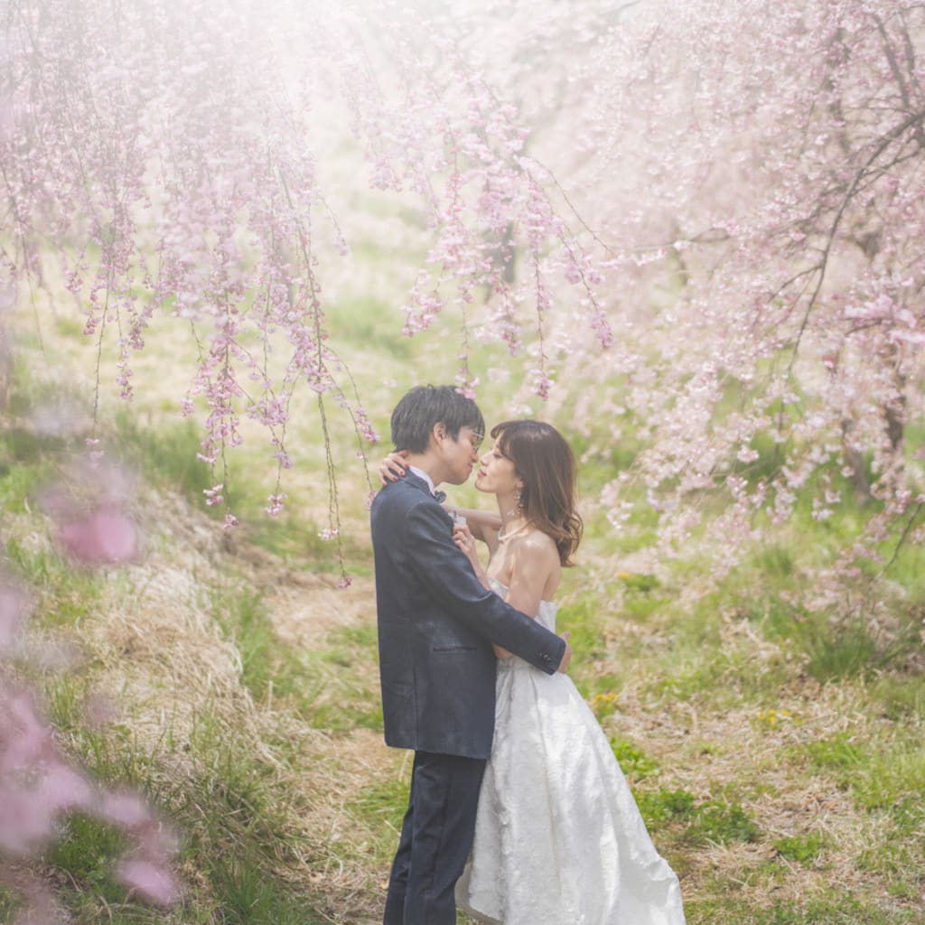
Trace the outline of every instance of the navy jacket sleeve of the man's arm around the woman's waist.
[[541, 671], [555, 673], [564, 640], [482, 586], [447, 527], [436, 505], [416, 504], [407, 513], [405, 553], [414, 573], [457, 620]]

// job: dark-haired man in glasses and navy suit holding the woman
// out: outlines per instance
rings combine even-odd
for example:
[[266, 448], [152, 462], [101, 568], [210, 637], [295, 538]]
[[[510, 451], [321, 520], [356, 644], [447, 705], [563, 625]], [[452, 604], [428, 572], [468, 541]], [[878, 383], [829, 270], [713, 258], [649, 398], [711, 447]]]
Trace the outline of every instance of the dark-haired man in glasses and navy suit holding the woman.
[[414, 763], [383, 921], [454, 925], [494, 732], [491, 645], [549, 674], [572, 649], [478, 582], [435, 497], [472, 473], [485, 432], [475, 401], [452, 386], [413, 388], [391, 431], [409, 472], [373, 501], [379, 669], [386, 744], [413, 748]]

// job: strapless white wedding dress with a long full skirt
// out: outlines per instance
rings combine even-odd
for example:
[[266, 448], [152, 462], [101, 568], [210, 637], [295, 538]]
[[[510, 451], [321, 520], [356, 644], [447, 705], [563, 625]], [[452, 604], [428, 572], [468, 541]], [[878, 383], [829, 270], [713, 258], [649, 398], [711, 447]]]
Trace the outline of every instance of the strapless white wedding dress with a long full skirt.
[[[536, 619], [554, 630], [556, 605], [543, 601]], [[489, 925], [684, 925], [678, 879], [565, 674], [499, 661], [494, 747], [456, 901]]]

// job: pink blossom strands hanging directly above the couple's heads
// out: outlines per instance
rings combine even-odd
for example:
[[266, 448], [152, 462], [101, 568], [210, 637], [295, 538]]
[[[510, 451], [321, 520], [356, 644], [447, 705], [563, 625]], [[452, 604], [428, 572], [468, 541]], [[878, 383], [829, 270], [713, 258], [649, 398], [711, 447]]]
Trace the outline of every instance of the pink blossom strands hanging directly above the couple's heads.
[[[466, 14], [484, 22], [490, 11], [478, 3], [456, 5], [451, 17], [426, 21], [422, 43], [421, 10], [387, 6], [390, 15], [376, 26], [394, 49], [401, 105], [388, 107], [376, 83], [354, 86], [345, 96], [355, 106], [366, 149], [376, 153], [382, 187], [420, 196], [434, 237], [404, 306], [404, 333], [427, 330], [448, 307], [461, 313], [457, 381], [463, 392], [474, 394], [470, 327], [476, 303], [487, 294], [489, 314], [477, 327], [479, 339], [503, 341], [517, 352], [524, 334], [536, 336], [531, 377], [545, 398], [543, 326], [553, 292], [566, 280], [578, 285], [583, 307], [575, 316], [590, 319], [599, 347], [608, 347], [612, 333], [595, 292], [602, 277], [550, 197], [555, 180], [528, 151], [527, 121], [510, 93], [499, 89], [506, 88], [506, 75], [489, 80], [486, 69], [474, 64], [477, 47], [468, 41]], [[363, 74], [364, 66], [368, 62], [358, 53], [350, 73]], [[364, 117], [383, 106], [388, 119]], [[517, 273], [523, 257], [526, 269]]]

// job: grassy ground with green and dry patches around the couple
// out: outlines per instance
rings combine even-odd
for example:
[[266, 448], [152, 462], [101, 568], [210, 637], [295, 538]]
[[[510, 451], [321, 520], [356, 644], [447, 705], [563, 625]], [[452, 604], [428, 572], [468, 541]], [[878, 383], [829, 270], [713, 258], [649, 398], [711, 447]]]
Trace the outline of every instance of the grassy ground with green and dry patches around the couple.
[[[141, 561], [74, 569], [38, 499], [83, 432], [49, 437], [35, 424], [65, 395], [86, 408], [88, 380], [68, 388], [68, 370], [86, 369], [68, 325], [19, 340], [0, 417], [0, 549], [34, 592], [33, 638], [81, 656], [63, 672], [10, 670], [42, 691], [71, 755], [142, 788], [174, 821], [187, 893], [169, 914], [131, 901], [109, 873], [117, 833], [81, 817], [38, 869], [77, 922], [376, 922], [410, 761], [381, 742], [364, 476], [342, 473], [353, 584], [337, 590], [336, 557], [317, 536], [327, 500], [311, 419], [295, 428], [288, 512], [260, 515], [264, 450], [248, 450], [235, 469], [243, 523], [227, 533], [203, 508], [197, 437], [161, 376], [130, 413], [105, 414], [110, 451], [139, 473]], [[369, 331], [357, 338], [368, 348]], [[358, 367], [380, 427], [411, 384], [409, 360], [438, 374], [445, 353], [438, 339], [403, 343]], [[169, 350], [155, 344], [154, 370]], [[506, 407], [505, 390], [489, 387], [486, 407]], [[716, 583], [696, 554], [650, 558], [644, 519], [612, 533], [594, 499], [618, 462], [586, 454], [588, 534], [560, 623], [573, 631], [573, 678], [681, 876], [689, 922], [925, 923], [921, 554], [861, 581], [855, 616], [834, 620], [808, 608], [808, 569], [831, 561], [864, 508], [848, 503], [823, 524], [798, 514]], [[99, 694], [118, 707], [102, 727], [85, 709]], [[0, 919], [16, 904], [0, 893]]]

